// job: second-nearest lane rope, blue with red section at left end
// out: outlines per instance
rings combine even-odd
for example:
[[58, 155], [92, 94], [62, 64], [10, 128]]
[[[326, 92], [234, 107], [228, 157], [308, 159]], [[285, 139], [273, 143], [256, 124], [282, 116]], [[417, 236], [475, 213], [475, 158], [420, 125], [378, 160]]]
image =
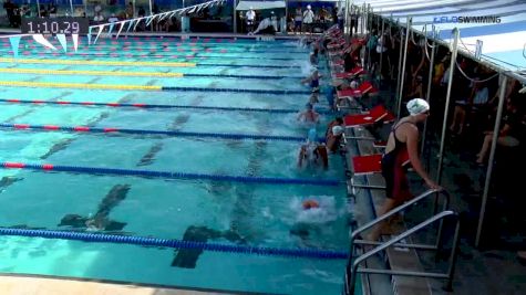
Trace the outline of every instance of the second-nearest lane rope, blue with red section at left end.
[[135, 177], [157, 177], [164, 179], [205, 179], [215, 181], [234, 181], [244, 183], [266, 183], [266, 185], [309, 185], [321, 187], [336, 187], [341, 181], [336, 179], [308, 179], [308, 178], [279, 178], [279, 177], [249, 177], [249, 176], [225, 176], [225, 175], [204, 175], [186, 173], [155, 170], [135, 170], [121, 168], [97, 168], [85, 166], [65, 166], [52, 164], [24, 164], [24, 162], [1, 162], [0, 168], [4, 169], [29, 169], [38, 171], [61, 171], [61, 172], [81, 172], [87, 175], [110, 175], [110, 176], [135, 176]]

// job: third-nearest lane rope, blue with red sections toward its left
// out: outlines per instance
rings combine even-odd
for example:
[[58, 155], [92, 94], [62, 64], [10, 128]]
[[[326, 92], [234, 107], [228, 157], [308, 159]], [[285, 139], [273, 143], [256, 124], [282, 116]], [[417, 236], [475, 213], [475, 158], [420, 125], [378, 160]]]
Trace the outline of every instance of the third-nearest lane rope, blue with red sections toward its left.
[[146, 130], [146, 129], [123, 129], [114, 127], [87, 127], [87, 126], [58, 126], [58, 125], [29, 125], [29, 124], [10, 124], [0, 123], [0, 128], [9, 128], [14, 130], [45, 130], [45, 131], [73, 131], [73, 133], [121, 133], [121, 134], [141, 134], [141, 135], [167, 135], [177, 137], [208, 137], [221, 139], [250, 139], [250, 140], [269, 140], [269, 141], [303, 141], [303, 137], [279, 136], [279, 135], [251, 135], [251, 134], [218, 134], [218, 133], [188, 133], [172, 130]]

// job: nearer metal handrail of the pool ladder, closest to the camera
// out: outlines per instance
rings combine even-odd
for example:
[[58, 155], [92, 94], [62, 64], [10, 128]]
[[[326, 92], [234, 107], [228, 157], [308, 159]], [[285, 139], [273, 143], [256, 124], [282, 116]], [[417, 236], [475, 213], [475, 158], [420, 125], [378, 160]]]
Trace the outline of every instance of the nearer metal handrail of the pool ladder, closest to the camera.
[[[385, 250], [389, 246], [395, 245], [398, 242], [401, 240], [408, 238], [409, 235], [422, 230], [423, 228], [436, 222], [441, 221], [444, 218], [452, 217], [455, 219], [455, 234], [453, 238], [453, 247], [451, 251], [451, 256], [450, 256], [450, 266], [447, 268], [447, 272], [444, 274], [441, 273], [431, 273], [431, 272], [413, 272], [413, 271], [388, 271], [388, 270], [375, 270], [375, 268], [358, 268], [358, 266], [371, 257], [372, 255], [379, 253], [380, 251]], [[374, 273], [374, 274], [391, 274], [391, 275], [403, 275], [403, 276], [420, 276], [420, 277], [435, 277], [435, 278], [447, 278], [447, 285], [445, 286], [446, 291], [452, 289], [453, 285], [453, 273], [455, 270], [455, 262], [456, 262], [456, 250], [458, 246], [458, 233], [460, 233], [460, 220], [458, 220], [458, 214], [453, 212], [453, 211], [443, 211], [440, 212], [439, 214], [421, 222], [420, 224], [415, 225], [414, 228], [403, 232], [402, 234], [391, 239], [390, 241], [374, 247], [373, 250], [362, 254], [359, 256], [354, 263], [352, 264], [352, 270], [350, 271], [351, 277], [349, 278], [349, 272], [345, 273], [345, 291], [348, 292], [347, 294], [354, 294], [354, 286], [357, 282], [357, 273]]]

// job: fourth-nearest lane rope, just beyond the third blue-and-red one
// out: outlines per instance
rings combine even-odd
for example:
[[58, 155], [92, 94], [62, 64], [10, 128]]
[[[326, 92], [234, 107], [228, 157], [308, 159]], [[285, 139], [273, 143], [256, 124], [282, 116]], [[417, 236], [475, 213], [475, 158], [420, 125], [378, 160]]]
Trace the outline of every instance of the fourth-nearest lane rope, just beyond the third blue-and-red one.
[[[94, 102], [70, 102], [70, 101], [23, 101], [23, 99], [4, 99], [0, 98], [0, 103], [12, 104], [45, 104], [45, 105], [82, 105], [82, 106], [107, 106], [107, 107], [135, 107], [135, 108], [183, 108], [183, 109], [207, 109], [207, 110], [233, 110], [233, 112], [259, 112], [259, 113], [275, 113], [289, 114], [298, 113], [298, 109], [287, 108], [254, 108], [254, 107], [226, 107], [226, 106], [192, 106], [192, 105], [154, 105], [154, 104], [121, 104], [121, 103], [94, 103]], [[329, 109], [316, 109], [319, 114], [331, 114]]]

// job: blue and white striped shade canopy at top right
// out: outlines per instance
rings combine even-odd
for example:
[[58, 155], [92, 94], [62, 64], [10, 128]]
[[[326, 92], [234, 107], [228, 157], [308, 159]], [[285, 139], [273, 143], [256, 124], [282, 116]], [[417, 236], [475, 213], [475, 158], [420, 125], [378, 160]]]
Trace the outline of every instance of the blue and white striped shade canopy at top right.
[[[421, 32], [430, 31], [434, 24], [440, 30], [439, 38], [446, 42], [453, 38], [452, 29], [457, 28], [461, 49], [474, 53], [476, 41], [481, 40], [483, 59], [506, 71], [526, 70], [524, 0], [355, 0], [353, 3], [371, 4], [374, 13], [399, 20], [401, 24], [412, 17], [412, 28]], [[476, 17], [486, 17], [485, 22]]]

